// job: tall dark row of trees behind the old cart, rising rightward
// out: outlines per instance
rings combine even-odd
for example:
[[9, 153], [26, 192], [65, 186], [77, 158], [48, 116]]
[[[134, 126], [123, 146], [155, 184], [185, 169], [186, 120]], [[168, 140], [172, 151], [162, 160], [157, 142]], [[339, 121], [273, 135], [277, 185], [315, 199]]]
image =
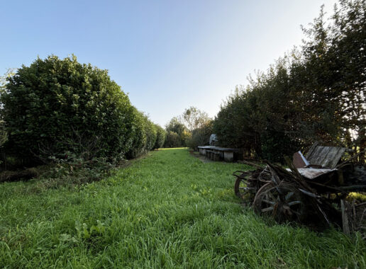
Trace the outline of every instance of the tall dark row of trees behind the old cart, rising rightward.
[[[282, 161], [314, 141], [366, 147], [366, 4], [340, 1], [304, 28], [305, 40], [236, 88], [214, 120], [221, 146]], [[365, 161], [365, 155], [359, 161]]]

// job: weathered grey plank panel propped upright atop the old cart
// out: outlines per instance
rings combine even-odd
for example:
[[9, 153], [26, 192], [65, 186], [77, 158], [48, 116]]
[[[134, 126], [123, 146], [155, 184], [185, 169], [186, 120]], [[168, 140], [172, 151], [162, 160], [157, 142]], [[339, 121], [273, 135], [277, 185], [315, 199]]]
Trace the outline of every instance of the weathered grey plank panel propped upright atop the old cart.
[[306, 156], [306, 159], [311, 164], [317, 164], [326, 168], [335, 168], [338, 161], [345, 153], [344, 147], [321, 147], [317, 146], [313, 151]]

